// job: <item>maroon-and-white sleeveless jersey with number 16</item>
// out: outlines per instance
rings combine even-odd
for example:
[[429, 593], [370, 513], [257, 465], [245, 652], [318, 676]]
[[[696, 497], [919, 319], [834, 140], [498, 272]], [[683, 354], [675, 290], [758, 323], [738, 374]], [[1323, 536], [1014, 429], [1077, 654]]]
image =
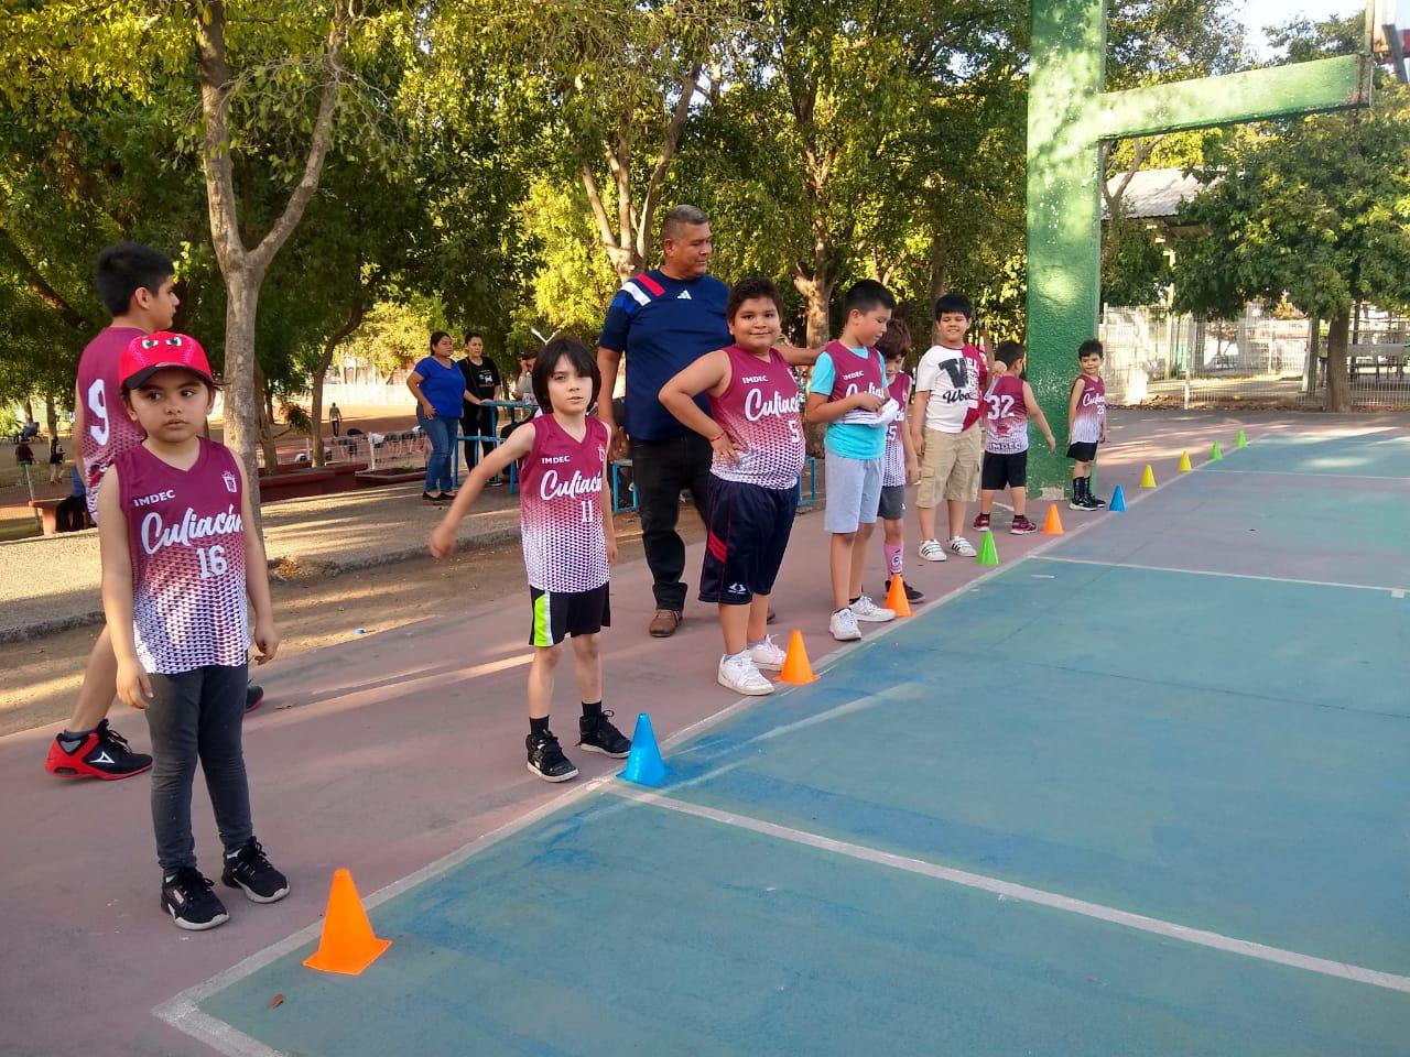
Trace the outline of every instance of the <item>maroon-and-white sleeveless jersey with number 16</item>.
[[200, 438], [186, 471], [141, 444], [113, 461], [133, 557], [133, 630], [149, 672], [245, 664], [245, 534], [235, 457]]

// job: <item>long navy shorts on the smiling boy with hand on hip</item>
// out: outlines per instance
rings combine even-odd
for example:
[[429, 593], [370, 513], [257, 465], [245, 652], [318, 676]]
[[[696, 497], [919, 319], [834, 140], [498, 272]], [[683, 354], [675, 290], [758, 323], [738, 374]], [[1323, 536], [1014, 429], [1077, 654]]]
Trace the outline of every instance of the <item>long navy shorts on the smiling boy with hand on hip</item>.
[[771, 595], [795, 513], [795, 488], [744, 485], [711, 474], [701, 602], [747, 606], [754, 595]]

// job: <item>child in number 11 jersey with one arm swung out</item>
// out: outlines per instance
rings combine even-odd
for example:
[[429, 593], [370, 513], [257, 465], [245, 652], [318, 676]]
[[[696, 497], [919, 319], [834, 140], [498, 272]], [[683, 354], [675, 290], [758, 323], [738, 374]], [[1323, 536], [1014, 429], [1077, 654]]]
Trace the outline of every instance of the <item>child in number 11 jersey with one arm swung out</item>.
[[482, 458], [436, 526], [430, 551], [455, 552], [455, 527], [485, 483], [519, 462], [520, 537], [533, 622], [529, 644], [529, 771], [547, 782], [575, 778], [578, 768], [548, 730], [558, 647], [572, 637], [582, 717], [578, 746], [589, 753], [625, 757], [632, 741], [602, 709], [602, 657], [598, 637], [612, 623], [609, 568], [616, 561], [612, 486], [606, 455], [611, 441], [601, 419], [588, 417], [602, 376], [592, 354], [571, 338], [550, 341], [533, 368], [533, 393], [543, 414], [525, 423]]

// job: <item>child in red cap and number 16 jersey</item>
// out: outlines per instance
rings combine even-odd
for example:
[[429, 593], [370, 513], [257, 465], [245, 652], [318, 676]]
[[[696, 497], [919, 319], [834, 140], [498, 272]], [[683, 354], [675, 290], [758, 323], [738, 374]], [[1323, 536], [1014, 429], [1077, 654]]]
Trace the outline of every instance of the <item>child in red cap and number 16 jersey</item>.
[[145, 709], [151, 729], [162, 909], [182, 929], [213, 929], [228, 915], [196, 864], [197, 760], [226, 848], [221, 882], [257, 903], [289, 894], [250, 820], [241, 748], [247, 595], [259, 664], [278, 651], [279, 633], [244, 466], [200, 435], [214, 399], [206, 352], [185, 334], [140, 335], [123, 350], [118, 379], [125, 412], [147, 435], [114, 455], [99, 496], [117, 695]]

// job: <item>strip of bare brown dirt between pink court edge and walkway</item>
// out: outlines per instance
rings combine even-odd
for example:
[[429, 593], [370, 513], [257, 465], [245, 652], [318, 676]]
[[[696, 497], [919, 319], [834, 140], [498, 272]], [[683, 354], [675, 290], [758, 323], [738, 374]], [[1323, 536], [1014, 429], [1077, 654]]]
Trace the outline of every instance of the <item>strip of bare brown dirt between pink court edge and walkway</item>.
[[[699, 519], [681, 510], [681, 536], [694, 543], [704, 536]], [[618, 521], [618, 562], [642, 560], [636, 520]], [[454, 617], [467, 599], [479, 603], [505, 599], [512, 620], [525, 622], [523, 552], [517, 543], [457, 554], [446, 561], [416, 558], [316, 579], [275, 579], [275, 619], [283, 641], [279, 657], [293, 657], [350, 638], [362, 629], [376, 634], [426, 617]], [[68, 719], [83, 665], [100, 627], [79, 627], [48, 638], [0, 645], [0, 734], [41, 727]], [[269, 688], [278, 706], [279, 658], [255, 679]], [[127, 706], [113, 710], [114, 724], [131, 724]], [[140, 722], [140, 720], [138, 720]]]

